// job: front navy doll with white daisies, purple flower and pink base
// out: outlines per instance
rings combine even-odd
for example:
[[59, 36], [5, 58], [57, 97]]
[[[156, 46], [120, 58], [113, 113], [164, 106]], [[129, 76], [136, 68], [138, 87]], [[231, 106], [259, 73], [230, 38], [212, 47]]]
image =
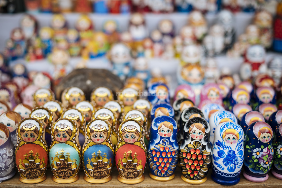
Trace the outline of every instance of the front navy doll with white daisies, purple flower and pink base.
[[252, 123], [246, 132], [243, 176], [251, 182], [264, 182], [272, 166], [273, 132], [265, 122]]

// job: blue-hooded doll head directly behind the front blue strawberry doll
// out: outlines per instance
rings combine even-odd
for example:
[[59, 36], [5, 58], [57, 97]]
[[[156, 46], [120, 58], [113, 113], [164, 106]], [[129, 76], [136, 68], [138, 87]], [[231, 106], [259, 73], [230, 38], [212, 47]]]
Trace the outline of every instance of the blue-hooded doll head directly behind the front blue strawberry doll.
[[157, 103], [151, 109], [151, 120], [157, 118], [158, 116], [170, 116], [174, 118], [173, 107], [168, 103]]

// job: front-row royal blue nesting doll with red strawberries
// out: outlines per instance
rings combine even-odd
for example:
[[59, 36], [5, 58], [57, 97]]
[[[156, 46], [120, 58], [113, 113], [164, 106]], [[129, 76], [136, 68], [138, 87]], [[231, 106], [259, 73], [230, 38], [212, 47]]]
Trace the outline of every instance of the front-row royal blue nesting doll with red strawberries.
[[178, 163], [177, 125], [169, 116], [158, 116], [151, 125], [148, 152], [150, 177], [160, 182], [172, 180]]

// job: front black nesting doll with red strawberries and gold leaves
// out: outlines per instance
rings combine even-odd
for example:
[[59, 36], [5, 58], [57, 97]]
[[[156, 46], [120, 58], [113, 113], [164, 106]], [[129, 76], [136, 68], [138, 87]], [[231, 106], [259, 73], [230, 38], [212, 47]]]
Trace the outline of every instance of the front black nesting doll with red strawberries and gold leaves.
[[194, 117], [184, 126], [184, 137], [180, 145], [180, 167], [182, 180], [198, 185], [207, 180], [211, 165], [210, 126], [204, 118]]

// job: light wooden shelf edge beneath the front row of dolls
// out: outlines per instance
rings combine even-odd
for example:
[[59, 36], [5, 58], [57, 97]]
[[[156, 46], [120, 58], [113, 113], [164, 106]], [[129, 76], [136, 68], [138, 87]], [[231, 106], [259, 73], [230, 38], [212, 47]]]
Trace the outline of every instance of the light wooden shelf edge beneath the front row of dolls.
[[[182, 179], [181, 179], [181, 172], [180, 172], [180, 167], [177, 167], [177, 169], [175, 170], [175, 178], [173, 180], [170, 180], [168, 182], [158, 182], [153, 180], [152, 178], [150, 178], [149, 176], [149, 169], [148, 167], [146, 167], [144, 175], [145, 175], [145, 180], [141, 183], [138, 184], [134, 184], [134, 185], [128, 185], [128, 184], [124, 184], [118, 181], [117, 179], [117, 169], [116, 167], [114, 167], [113, 172], [112, 172], [112, 180], [107, 182], [107, 183], [103, 183], [103, 184], [92, 184], [92, 183], [88, 183], [83, 179], [84, 176], [84, 172], [80, 171], [79, 175], [80, 178], [73, 183], [69, 183], [69, 184], [60, 184], [60, 183], [56, 183], [52, 180], [52, 172], [51, 169], [47, 169], [47, 179], [43, 182], [40, 183], [36, 183], [36, 184], [25, 184], [25, 183], [21, 183], [19, 181], [19, 173], [16, 173], [16, 175], [7, 181], [1, 182], [0, 183], [0, 188], [4, 188], [4, 187], [172, 187], [172, 188], [180, 188], [180, 187], [185, 187], [187, 188], [188, 186], [193, 186], [193, 187], [205, 187], [205, 188], [210, 188], [210, 187], [226, 187], [223, 185], [219, 185], [215, 182], [213, 182], [213, 180], [211, 180], [211, 169], [208, 173], [208, 180], [201, 184], [201, 185], [190, 185], [188, 183], [185, 183]], [[275, 178], [271, 172], [268, 173], [269, 178], [268, 180], [266, 180], [265, 182], [262, 183], [254, 183], [254, 182], [250, 182], [248, 180], [246, 180], [242, 173], [241, 173], [241, 180], [237, 185], [234, 185], [232, 187], [240, 187], [240, 188], [246, 188], [246, 187], [261, 187], [261, 186], [265, 186], [265, 187], [282, 187], [282, 180], [279, 180], [277, 178]]]

